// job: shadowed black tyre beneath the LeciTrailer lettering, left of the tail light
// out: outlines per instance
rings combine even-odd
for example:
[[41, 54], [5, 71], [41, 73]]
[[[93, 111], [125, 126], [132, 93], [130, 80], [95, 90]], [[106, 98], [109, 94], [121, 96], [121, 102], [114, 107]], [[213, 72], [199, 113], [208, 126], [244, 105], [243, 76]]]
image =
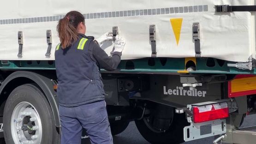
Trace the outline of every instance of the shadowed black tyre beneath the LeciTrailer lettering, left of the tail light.
[[181, 144], [184, 142], [183, 128], [188, 125], [188, 122], [183, 114], [173, 115], [173, 121], [170, 128], [166, 132], [153, 132], [142, 120], [135, 120], [136, 127], [140, 134], [150, 144]]

